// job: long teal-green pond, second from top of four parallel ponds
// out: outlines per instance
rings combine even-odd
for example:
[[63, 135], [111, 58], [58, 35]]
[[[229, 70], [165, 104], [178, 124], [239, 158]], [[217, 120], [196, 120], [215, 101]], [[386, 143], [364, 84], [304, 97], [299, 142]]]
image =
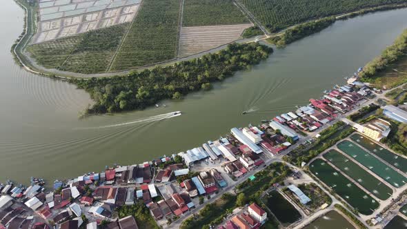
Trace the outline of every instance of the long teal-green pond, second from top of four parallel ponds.
[[355, 143], [353, 143], [352, 141], [341, 141], [337, 144], [337, 147], [339, 148], [339, 150], [346, 153], [350, 157], [353, 157], [353, 159], [374, 172], [377, 176], [390, 183], [392, 186], [399, 188], [406, 184], [406, 177], [399, 174], [399, 172], [397, 172], [393, 168], [390, 168], [373, 155], [370, 155], [369, 152], [366, 152], [359, 146], [355, 145]]

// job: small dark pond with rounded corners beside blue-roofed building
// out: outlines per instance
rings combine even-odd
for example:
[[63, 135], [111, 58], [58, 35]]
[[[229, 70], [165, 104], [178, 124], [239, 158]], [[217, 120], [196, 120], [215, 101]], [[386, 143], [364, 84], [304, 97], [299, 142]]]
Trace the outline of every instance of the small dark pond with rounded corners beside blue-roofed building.
[[264, 197], [264, 203], [284, 226], [301, 218], [297, 209], [276, 190], [268, 192], [268, 195]]

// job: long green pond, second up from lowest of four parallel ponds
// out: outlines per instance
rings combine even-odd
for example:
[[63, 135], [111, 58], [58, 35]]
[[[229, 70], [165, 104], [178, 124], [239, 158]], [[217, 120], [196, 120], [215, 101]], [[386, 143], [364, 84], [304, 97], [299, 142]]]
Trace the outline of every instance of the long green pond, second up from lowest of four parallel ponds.
[[324, 155], [324, 158], [357, 183], [360, 183], [361, 186], [375, 195], [375, 197], [385, 200], [393, 194], [393, 190], [386, 186], [385, 183], [382, 183], [376, 177], [370, 175], [364, 168], [361, 168], [357, 163], [351, 161], [337, 150], [330, 150]]

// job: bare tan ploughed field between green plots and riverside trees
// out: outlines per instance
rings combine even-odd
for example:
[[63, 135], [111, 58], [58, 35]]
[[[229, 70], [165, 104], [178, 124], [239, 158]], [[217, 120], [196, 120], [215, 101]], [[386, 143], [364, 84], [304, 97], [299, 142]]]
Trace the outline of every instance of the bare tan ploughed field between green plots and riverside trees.
[[250, 26], [251, 24], [183, 27], [179, 38], [178, 55], [186, 57], [235, 41]]

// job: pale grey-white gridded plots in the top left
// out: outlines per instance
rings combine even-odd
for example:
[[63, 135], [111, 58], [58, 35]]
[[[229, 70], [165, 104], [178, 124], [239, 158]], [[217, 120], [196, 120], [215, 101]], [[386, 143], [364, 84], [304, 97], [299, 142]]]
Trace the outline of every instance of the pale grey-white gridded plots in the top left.
[[32, 43], [130, 22], [139, 9], [140, 1], [43, 1], [39, 3], [39, 30]]

